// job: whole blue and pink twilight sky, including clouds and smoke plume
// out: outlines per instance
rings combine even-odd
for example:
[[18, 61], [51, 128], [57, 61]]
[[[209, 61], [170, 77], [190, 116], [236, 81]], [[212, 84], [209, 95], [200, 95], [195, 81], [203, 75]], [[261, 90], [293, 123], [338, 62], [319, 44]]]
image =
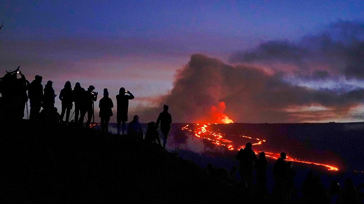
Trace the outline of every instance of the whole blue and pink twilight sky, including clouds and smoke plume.
[[99, 99], [107, 88], [111, 122], [120, 87], [141, 122], [163, 104], [173, 122], [358, 122], [363, 12], [363, 1], [5, 0], [0, 73], [20, 65], [58, 94], [66, 81]]

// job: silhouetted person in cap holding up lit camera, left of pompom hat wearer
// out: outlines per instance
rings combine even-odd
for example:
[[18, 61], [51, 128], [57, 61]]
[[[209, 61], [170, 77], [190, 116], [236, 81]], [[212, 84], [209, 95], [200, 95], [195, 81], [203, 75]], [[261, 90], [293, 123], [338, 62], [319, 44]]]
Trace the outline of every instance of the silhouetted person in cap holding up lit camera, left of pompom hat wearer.
[[95, 87], [90, 85], [87, 91], [84, 92], [83, 96], [81, 97], [81, 107], [80, 107], [80, 119], [78, 121], [79, 125], [83, 125], [83, 118], [87, 113], [87, 122], [86, 127], [90, 127], [91, 119], [92, 119], [92, 104], [94, 101], [97, 100], [97, 92], [94, 92]]

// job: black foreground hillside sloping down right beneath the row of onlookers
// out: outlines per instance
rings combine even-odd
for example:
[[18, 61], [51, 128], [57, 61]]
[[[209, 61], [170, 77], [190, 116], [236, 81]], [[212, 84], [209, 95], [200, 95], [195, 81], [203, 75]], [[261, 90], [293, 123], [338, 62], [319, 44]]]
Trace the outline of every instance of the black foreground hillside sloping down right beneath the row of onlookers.
[[246, 192], [143, 140], [23, 120], [0, 128], [0, 203], [244, 203]]

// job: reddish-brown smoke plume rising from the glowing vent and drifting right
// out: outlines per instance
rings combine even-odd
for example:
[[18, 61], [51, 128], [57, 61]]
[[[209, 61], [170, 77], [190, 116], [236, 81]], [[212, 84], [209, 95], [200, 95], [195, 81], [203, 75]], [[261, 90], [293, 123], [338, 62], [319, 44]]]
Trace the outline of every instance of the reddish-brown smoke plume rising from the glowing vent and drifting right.
[[[316, 75], [328, 76], [325, 72]], [[211, 118], [211, 109], [219, 109], [225, 102], [225, 114], [235, 122], [302, 122], [345, 116], [363, 99], [364, 89], [340, 93], [316, 90], [284, 82], [281, 73], [227, 65], [195, 54], [178, 71], [173, 89], [160, 98], [158, 108], [138, 108], [147, 120], [155, 120], [167, 104], [174, 122], [213, 123], [216, 118]]]

